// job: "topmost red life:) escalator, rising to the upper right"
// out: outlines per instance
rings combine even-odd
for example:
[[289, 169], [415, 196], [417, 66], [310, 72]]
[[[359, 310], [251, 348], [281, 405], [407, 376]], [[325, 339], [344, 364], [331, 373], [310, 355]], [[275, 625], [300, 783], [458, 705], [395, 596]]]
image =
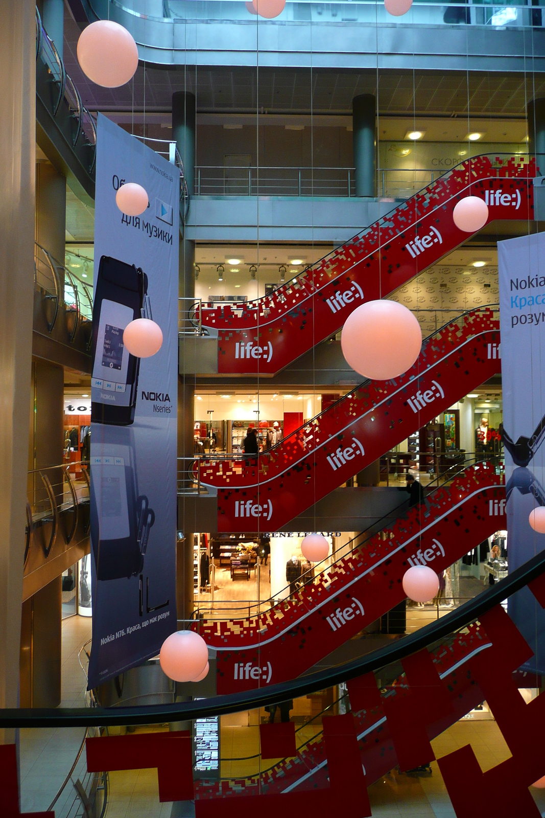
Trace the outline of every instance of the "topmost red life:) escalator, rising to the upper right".
[[217, 332], [218, 373], [274, 375], [334, 335], [361, 303], [385, 298], [449, 254], [471, 236], [453, 222], [464, 196], [485, 200], [489, 222], [533, 219], [534, 176], [534, 160], [521, 156], [466, 160], [273, 293], [203, 305], [203, 326]]

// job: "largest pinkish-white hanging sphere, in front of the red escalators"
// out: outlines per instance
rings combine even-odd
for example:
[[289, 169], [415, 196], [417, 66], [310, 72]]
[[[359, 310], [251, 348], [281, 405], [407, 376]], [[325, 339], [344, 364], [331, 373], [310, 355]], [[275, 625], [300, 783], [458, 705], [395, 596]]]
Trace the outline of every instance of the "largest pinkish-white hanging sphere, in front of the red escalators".
[[373, 380], [389, 380], [413, 366], [422, 330], [413, 313], [396, 301], [368, 301], [345, 321], [341, 334], [346, 362]]

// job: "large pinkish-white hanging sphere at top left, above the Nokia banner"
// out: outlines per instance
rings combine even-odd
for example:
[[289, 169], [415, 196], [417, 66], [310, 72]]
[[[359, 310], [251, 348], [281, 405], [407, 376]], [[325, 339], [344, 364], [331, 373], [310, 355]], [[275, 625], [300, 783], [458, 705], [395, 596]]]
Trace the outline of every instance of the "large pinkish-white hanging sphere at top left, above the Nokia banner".
[[78, 63], [92, 83], [118, 88], [134, 76], [138, 48], [123, 25], [113, 20], [97, 20], [79, 35]]

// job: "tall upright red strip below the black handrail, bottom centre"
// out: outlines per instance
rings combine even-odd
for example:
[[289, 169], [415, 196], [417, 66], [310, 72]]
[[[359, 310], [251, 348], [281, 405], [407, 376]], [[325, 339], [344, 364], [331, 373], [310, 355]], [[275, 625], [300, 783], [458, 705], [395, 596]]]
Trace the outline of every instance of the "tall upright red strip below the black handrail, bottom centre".
[[371, 815], [367, 784], [361, 766], [358, 735], [352, 713], [328, 716], [323, 720], [331, 793], [342, 802], [346, 818]]

